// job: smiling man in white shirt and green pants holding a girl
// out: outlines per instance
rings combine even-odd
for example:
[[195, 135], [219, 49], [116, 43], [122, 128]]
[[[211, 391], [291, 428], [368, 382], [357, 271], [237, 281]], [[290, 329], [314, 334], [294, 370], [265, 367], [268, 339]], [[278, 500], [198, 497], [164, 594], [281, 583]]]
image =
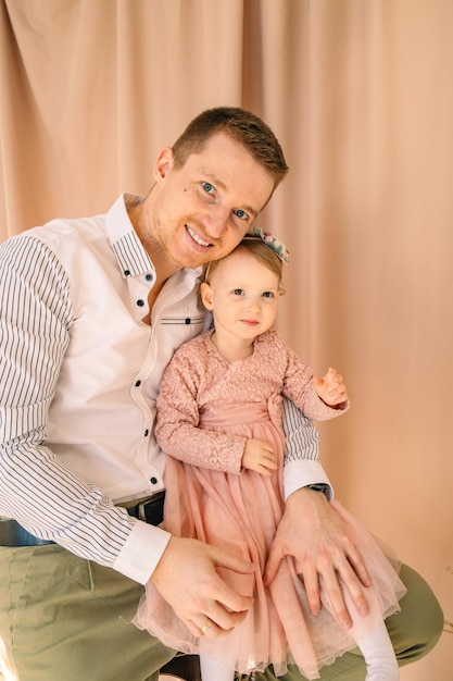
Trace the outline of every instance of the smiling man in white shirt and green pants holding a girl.
[[[174, 652], [129, 624], [149, 579], [197, 635], [222, 635], [251, 607], [215, 570], [250, 565], [156, 527], [164, 455], [152, 426], [166, 362], [209, 323], [200, 265], [251, 231], [287, 170], [262, 121], [210, 110], [160, 153], [144, 199], [125, 195], [105, 215], [55, 220], [2, 246], [0, 635], [20, 681], [155, 681]], [[287, 410], [288, 503], [266, 578], [294, 555], [312, 610], [322, 574], [348, 627], [338, 575], [366, 610], [368, 574], [326, 496], [307, 486], [327, 483], [298, 445], [306, 432], [316, 439]], [[414, 640], [402, 616], [392, 634], [400, 657], [415, 659], [441, 615], [418, 575], [405, 598]], [[339, 663], [326, 673], [363, 678], [358, 656]]]

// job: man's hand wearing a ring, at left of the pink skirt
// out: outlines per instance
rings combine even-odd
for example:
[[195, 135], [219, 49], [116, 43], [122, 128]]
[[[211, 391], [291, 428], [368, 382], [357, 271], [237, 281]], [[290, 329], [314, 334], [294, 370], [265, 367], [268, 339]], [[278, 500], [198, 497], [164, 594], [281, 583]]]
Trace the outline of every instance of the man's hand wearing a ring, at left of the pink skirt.
[[[198, 540], [172, 536], [151, 581], [196, 636], [215, 639], [241, 622], [251, 596], [232, 591], [215, 571], [229, 568], [248, 574], [251, 562]], [[203, 629], [203, 628], [207, 629]]]

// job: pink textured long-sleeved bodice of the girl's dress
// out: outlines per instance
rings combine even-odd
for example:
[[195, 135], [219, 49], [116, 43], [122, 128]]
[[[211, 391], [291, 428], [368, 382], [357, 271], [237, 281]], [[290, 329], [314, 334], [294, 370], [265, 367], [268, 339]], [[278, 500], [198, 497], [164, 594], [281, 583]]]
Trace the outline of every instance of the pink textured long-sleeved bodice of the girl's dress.
[[[200, 414], [212, 406], [218, 411], [222, 406], [261, 401], [281, 393], [306, 417], [324, 420], [342, 413], [319, 399], [313, 371], [276, 332], [260, 336], [253, 356], [236, 362], [218, 354], [209, 334], [199, 336], [181, 346], [165, 370], [155, 436], [165, 454], [186, 463], [239, 473], [246, 438], [200, 428]], [[297, 432], [300, 439], [300, 424]], [[313, 456], [314, 443], [312, 437], [307, 457]]]

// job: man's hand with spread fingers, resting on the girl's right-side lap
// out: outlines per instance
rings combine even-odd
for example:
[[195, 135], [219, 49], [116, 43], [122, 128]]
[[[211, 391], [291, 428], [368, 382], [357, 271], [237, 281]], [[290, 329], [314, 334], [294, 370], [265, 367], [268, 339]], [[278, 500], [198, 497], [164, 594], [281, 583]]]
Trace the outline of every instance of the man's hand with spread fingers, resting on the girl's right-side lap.
[[288, 555], [295, 558], [313, 615], [320, 610], [320, 578], [334, 612], [345, 629], [352, 626], [352, 620], [339, 578], [358, 612], [368, 614], [364, 587], [369, 586], [372, 580], [361, 554], [348, 536], [347, 525], [323, 493], [303, 487], [289, 496], [267, 558], [265, 584], [273, 581]]

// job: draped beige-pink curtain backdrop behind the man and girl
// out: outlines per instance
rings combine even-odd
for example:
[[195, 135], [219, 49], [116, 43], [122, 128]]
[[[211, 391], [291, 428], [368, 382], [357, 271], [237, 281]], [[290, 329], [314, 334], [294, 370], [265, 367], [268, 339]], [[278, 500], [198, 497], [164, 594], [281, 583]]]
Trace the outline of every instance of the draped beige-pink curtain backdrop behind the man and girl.
[[[453, 1], [0, 0], [0, 237], [146, 193], [204, 108], [243, 106], [290, 176], [279, 327], [352, 409], [337, 496], [453, 621]], [[449, 624], [445, 624], [448, 630]], [[452, 630], [452, 627], [450, 627]], [[450, 681], [453, 637], [402, 672]]]

